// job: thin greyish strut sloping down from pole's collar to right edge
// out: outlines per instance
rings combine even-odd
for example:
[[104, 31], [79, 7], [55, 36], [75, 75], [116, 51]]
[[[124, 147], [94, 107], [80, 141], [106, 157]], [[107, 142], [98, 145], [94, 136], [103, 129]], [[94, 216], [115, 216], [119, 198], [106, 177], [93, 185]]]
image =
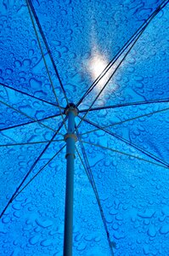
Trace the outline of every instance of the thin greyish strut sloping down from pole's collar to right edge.
[[85, 142], [85, 141], [82, 141], [82, 143], [87, 143], [87, 144], [89, 144], [89, 145], [92, 145], [92, 146], [98, 147], [98, 148], [108, 149], [108, 150], [110, 150], [110, 151], [112, 151], [112, 152], [115, 152], [115, 153], [118, 153], [118, 154], [124, 154], [124, 155], [127, 155], [127, 156], [129, 156], [129, 157], [132, 157], [132, 158], [135, 158], [135, 159], [138, 159], [138, 160], [142, 160], [142, 161], [147, 162], [147, 163], [149, 163], [149, 164], [153, 164], [153, 165], [155, 165], [155, 166], [161, 166], [161, 167], [163, 167], [163, 168], [169, 169], [169, 166], [166, 167], [166, 166], [164, 166], [164, 165], [157, 164], [157, 163], [155, 163], [155, 162], [146, 160], [146, 159], [141, 158], [141, 157], [139, 157], [139, 156], [132, 155], [132, 154], [127, 154], [127, 153], [122, 152], [122, 151], [120, 151], [120, 150], [116, 150], [116, 149], [113, 149], [113, 148], [104, 147], [104, 146], [102, 146], [102, 145], [95, 144], [95, 143], [88, 143], [88, 142]]

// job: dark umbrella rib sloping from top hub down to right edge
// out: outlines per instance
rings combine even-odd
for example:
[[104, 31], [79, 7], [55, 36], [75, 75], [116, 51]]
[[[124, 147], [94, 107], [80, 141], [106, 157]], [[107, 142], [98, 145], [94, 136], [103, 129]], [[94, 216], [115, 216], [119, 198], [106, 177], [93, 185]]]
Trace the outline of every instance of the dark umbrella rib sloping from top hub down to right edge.
[[[80, 116], [79, 116], [79, 118], [81, 119]], [[145, 150], [145, 149], [143, 149], [143, 148], [138, 147], [138, 146], [135, 145], [134, 143], [131, 143], [131, 142], [127, 141], [127, 139], [125, 139], [125, 138], [123, 138], [123, 137], [120, 137], [120, 136], [116, 135], [115, 133], [113, 133], [113, 132], [111, 132], [111, 131], [109, 131], [109, 130], [103, 129], [101, 126], [99, 126], [99, 125], [93, 123], [92, 121], [90, 121], [90, 120], [88, 120], [88, 119], [84, 119], [84, 121], [86, 121], [86, 122], [87, 122], [88, 124], [90, 124], [90, 125], [93, 125], [93, 126], [99, 128], [99, 129], [102, 130], [102, 131], [105, 131], [106, 133], [110, 134], [110, 136], [117, 138], [117, 139], [120, 140], [121, 142], [127, 143], [127, 145], [130, 145], [132, 148], [136, 148], [138, 151], [140, 151], [141, 153], [143, 153], [143, 154], [149, 156], [151, 159], [156, 160], [157, 162], [163, 164], [163, 165], [166, 166], [166, 167], [169, 167], [169, 164], [166, 163], [166, 161], [161, 160], [161, 159], [158, 158], [155, 154], [152, 154], [152, 153], [150, 153], [149, 151], [147, 151], [147, 150]]]

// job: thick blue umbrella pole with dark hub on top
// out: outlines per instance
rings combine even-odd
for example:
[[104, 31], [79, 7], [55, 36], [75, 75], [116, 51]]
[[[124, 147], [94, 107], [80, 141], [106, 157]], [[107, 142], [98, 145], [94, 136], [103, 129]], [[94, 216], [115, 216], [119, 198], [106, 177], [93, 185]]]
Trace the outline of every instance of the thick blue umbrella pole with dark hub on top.
[[75, 117], [77, 109], [70, 103], [65, 108], [68, 117], [68, 131], [65, 134], [66, 143], [66, 186], [65, 186], [65, 231], [64, 231], [64, 256], [72, 255], [73, 236], [73, 190], [74, 190], [74, 161], [75, 161]]

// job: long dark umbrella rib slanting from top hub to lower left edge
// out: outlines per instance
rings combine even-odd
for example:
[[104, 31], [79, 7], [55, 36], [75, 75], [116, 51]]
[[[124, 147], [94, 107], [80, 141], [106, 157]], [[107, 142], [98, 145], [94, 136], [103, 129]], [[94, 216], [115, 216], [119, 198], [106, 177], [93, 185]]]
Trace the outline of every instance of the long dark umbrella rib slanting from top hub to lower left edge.
[[14, 196], [18, 194], [21, 186], [23, 185], [23, 183], [25, 183], [26, 178], [30, 175], [30, 173], [32, 172], [32, 170], [34, 169], [35, 166], [37, 166], [37, 162], [38, 160], [40, 160], [42, 158], [42, 155], [45, 153], [45, 151], [47, 150], [47, 148], [50, 146], [50, 144], [53, 142], [54, 137], [58, 134], [59, 130], [62, 128], [63, 126], [63, 122], [62, 124], [59, 126], [58, 131], [56, 131], [53, 135], [53, 137], [51, 138], [51, 140], [49, 141], [49, 143], [45, 146], [45, 148], [43, 148], [41, 154], [39, 154], [39, 156], [37, 157], [37, 160], [35, 160], [35, 162], [33, 163], [33, 165], [31, 166], [30, 170], [26, 173], [25, 177], [22, 179], [20, 185], [16, 188], [16, 190], [14, 191], [14, 194], [10, 197], [6, 207], [3, 208], [3, 212], [1, 212], [0, 218], [3, 217], [4, 212], [6, 212], [7, 208], [9, 207], [9, 205], [14, 201]]

